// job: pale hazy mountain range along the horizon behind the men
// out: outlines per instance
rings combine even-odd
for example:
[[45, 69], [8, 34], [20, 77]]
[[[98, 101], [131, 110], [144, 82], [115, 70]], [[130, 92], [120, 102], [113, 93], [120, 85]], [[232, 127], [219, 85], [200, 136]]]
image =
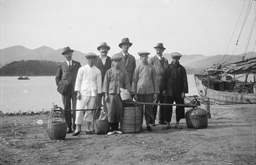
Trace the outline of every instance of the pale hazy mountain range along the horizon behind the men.
[[[23, 46], [12, 46], [9, 48], [4, 48], [0, 50], [0, 67], [5, 66], [13, 61], [20, 60], [49, 60], [53, 62], [63, 62], [64, 58], [61, 55], [62, 48], [58, 50], [54, 50], [47, 46], [42, 46], [36, 49], [28, 49]], [[237, 61], [242, 58], [244, 54], [239, 55], [215, 55], [215, 56], [204, 56], [201, 54], [192, 54], [192, 55], [182, 55], [180, 59], [180, 64], [182, 64], [187, 69], [192, 68], [206, 68], [211, 67], [212, 64], [223, 63], [231, 59], [232, 61]], [[73, 59], [79, 61], [81, 65], [87, 64], [85, 58], [85, 53], [75, 50], [73, 53]], [[154, 56], [154, 55], [153, 55]], [[163, 56], [170, 62], [172, 62], [172, 58], [170, 53], [164, 53]], [[245, 58], [250, 58], [252, 56], [256, 56], [256, 52], [247, 52]], [[152, 56], [150, 56], [152, 57]], [[150, 58], [149, 57], [149, 58]], [[223, 59], [224, 57], [224, 59]], [[136, 59], [136, 63], [140, 64], [140, 59]]]

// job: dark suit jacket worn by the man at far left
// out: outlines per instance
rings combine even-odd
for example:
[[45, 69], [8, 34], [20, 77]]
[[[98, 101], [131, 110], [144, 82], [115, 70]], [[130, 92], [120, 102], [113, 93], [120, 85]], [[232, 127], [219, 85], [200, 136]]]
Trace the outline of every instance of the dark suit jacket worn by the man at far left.
[[74, 61], [74, 60], [72, 62], [71, 69], [69, 68], [66, 61], [62, 62], [58, 66], [57, 74], [56, 74], [56, 77], [55, 77], [55, 81], [56, 81], [57, 86], [58, 86], [60, 81], [63, 81], [67, 85], [69, 85], [71, 83], [73, 85], [73, 87], [75, 88], [76, 75], [77, 75], [77, 72], [78, 72], [80, 67], [81, 67], [80, 62], [77, 62], [77, 61]]

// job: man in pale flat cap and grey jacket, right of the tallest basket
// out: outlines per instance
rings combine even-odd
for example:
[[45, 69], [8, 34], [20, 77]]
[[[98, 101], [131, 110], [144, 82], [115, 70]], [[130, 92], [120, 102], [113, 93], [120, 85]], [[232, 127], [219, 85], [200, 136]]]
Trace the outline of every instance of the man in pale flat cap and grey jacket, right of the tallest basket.
[[[157, 71], [152, 64], [148, 63], [149, 52], [143, 50], [139, 51], [140, 59], [142, 61], [135, 70], [132, 78], [131, 92], [134, 99], [139, 102], [153, 103], [159, 94], [159, 85], [157, 81]], [[144, 112], [145, 110], [145, 112]], [[141, 106], [141, 127], [143, 124], [143, 116], [145, 115], [146, 126], [148, 131], [152, 131], [151, 122], [153, 121], [153, 106]]]

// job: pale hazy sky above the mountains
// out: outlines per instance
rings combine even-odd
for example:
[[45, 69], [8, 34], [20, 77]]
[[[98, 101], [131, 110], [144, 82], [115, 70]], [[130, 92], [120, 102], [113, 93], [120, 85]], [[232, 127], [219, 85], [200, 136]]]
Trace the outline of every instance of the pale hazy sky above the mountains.
[[[121, 51], [122, 38], [128, 37], [133, 43], [129, 53], [136, 58], [139, 50], [155, 54], [157, 42], [163, 43], [164, 53], [225, 54], [244, 4], [227, 51], [232, 54], [252, 2], [247, 20], [253, 22], [255, 0], [1, 0], [0, 46], [45, 45], [55, 50], [70, 46], [99, 54], [97, 46], [107, 42], [112, 56]], [[244, 53], [250, 27], [244, 27], [234, 54]]]

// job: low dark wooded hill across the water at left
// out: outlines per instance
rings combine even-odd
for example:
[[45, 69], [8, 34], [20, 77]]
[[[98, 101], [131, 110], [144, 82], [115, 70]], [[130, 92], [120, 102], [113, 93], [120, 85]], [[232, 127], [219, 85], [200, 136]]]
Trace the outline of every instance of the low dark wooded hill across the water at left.
[[45, 60], [15, 61], [0, 69], [1, 76], [55, 76], [61, 62]]

